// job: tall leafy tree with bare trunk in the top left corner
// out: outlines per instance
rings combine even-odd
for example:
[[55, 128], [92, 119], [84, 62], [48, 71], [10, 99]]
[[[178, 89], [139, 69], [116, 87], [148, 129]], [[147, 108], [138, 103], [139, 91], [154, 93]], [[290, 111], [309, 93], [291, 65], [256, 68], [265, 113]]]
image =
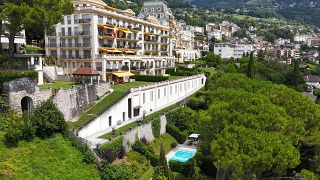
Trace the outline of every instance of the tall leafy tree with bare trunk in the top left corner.
[[[14, 63], [14, 38], [25, 28], [51, 31], [62, 14], [74, 11], [70, 0], [14, 0], [1, 5], [0, 19], [7, 21], [9, 30], [9, 64]], [[3, 30], [3, 29], [2, 29]]]

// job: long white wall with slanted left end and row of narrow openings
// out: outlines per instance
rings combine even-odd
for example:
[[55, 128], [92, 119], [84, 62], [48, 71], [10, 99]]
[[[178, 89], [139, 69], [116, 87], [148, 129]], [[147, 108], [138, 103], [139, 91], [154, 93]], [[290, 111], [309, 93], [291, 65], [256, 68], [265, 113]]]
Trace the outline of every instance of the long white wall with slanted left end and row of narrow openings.
[[203, 87], [205, 80], [204, 74], [197, 74], [131, 87], [128, 95], [81, 128], [78, 135], [85, 138], [119, 122], [139, 118], [143, 112], [149, 114], [174, 104]]

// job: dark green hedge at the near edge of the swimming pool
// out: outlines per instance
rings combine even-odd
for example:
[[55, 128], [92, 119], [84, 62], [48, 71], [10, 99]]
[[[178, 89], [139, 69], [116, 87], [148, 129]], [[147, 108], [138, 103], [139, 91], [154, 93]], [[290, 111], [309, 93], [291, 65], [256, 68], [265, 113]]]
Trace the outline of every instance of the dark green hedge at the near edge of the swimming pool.
[[194, 159], [190, 158], [186, 162], [179, 162], [176, 160], [169, 161], [169, 167], [174, 172], [179, 172], [187, 177], [194, 175]]

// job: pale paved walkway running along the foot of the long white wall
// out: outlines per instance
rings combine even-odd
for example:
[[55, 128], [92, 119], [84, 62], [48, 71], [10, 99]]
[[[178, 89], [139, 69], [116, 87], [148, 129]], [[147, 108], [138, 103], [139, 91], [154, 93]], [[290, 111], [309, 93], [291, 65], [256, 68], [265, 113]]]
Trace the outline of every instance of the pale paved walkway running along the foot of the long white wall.
[[[203, 85], [202, 85], [202, 86], [203, 86]], [[202, 88], [202, 86], [196, 88], [196, 89], [193, 90], [192, 92], [187, 93], [184, 97], [180, 97], [180, 98], [178, 98], [178, 99], [176, 99], [176, 100], [174, 100], [174, 101], [172, 101], [172, 102], [170, 102], [170, 103], [167, 103], [167, 104], [165, 104], [165, 105], [163, 105], [163, 106], [160, 106], [160, 107], [158, 107], [158, 108], [155, 108], [155, 109], [152, 110], [152, 111], [146, 112], [145, 115], [149, 115], [149, 114], [154, 113], [154, 112], [156, 112], [156, 111], [158, 111], [158, 110], [161, 110], [161, 109], [163, 109], [163, 108], [165, 108], [165, 107], [167, 107], [167, 106], [169, 106], [169, 105], [172, 105], [172, 104], [174, 104], [174, 103], [176, 103], [176, 102], [179, 102], [179, 101], [183, 100], [186, 96], [189, 96], [189, 95], [193, 94], [194, 92], [196, 92], [197, 90], [199, 90], [200, 88]], [[114, 127], [117, 129], [117, 128], [122, 127], [122, 126], [124, 126], [124, 125], [126, 125], [126, 124], [128, 124], [128, 123], [131, 123], [131, 122], [133, 122], [133, 121], [135, 121], [136, 119], [141, 118], [141, 117], [142, 117], [141, 115], [138, 115], [138, 116], [136, 116], [136, 117], [134, 117], [134, 118], [132, 118], [132, 119], [129, 119], [129, 120], [126, 120], [126, 121], [122, 122], [122, 123], [119, 124], [119, 125], [115, 125]], [[108, 133], [108, 132], [111, 132], [111, 131], [112, 131], [112, 127], [109, 127], [109, 128], [107, 128], [107, 129], [101, 130], [101, 131], [99, 131], [99, 132], [97, 132], [97, 133], [95, 133], [95, 134], [92, 134], [92, 135], [90, 135], [90, 136], [87, 136], [87, 137], [85, 137], [85, 139], [88, 140], [88, 141], [90, 141], [90, 142], [91, 142], [91, 148], [94, 148], [97, 143], [103, 144], [103, 143], [109, 141], [108, 139], [99, 138], [99, 136], [101, 136], [101, 135], [103, 135], [103, 134], [106, 134], [106, 133]]]

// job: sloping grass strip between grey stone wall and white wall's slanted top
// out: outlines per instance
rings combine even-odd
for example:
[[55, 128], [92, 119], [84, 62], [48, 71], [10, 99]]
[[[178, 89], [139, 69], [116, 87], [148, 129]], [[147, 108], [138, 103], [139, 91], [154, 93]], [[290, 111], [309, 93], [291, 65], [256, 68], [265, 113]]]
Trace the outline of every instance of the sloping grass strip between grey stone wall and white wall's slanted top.
[[118, 102], [128, 93], [129, 93], [128, 91], [121, 91], [121, 90], [113, 91], [112, 93], [104, 97], [100, 102], [96, 103], [88, 111], [86, 111], [85, 113], [81, 113], [79, 119], [73, 122], [72, 125], [76, 128], [79, 125], [83, 126], [88, 124], [90, 121], [94, 119], [94, 116], [89, 114], [95, 114], [95, 115], [102, 114], [105, 110], [107, 110], [113, 104]]

